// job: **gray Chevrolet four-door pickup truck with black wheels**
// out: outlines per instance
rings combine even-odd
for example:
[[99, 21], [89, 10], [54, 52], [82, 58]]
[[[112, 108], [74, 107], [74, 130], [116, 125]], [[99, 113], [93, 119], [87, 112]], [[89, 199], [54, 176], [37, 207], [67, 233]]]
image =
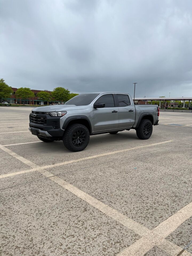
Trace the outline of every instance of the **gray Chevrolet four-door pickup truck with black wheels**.
[[41, 141], [63, 140], [67, 149], [81, 151], [90, 135], [135, 129], [138, 138], [149, 139], [158, 117], [158, 105], [134, 105], [127, 93], [88, 93], [64, 105], [34, 108], [29, 130]]

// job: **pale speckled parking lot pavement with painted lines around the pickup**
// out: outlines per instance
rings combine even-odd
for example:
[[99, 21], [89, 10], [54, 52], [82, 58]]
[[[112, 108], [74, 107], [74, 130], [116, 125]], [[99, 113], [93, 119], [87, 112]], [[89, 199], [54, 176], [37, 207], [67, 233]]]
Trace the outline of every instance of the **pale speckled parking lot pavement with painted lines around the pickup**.
[[74, 153], [29, 132], [31, 109], [0, 107], [1, 255], [192, 255], [192, 113]]

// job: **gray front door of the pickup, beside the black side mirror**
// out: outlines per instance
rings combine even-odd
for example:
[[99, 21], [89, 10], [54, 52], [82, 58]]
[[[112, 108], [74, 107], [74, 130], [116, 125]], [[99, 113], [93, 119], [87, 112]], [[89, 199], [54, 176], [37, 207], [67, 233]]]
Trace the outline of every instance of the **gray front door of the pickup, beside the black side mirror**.
[[103, 108], [93, 108], [94, 131], [99, 132], [117, 129], [118, 106], [115, 94], [104, 94], [94, 103], [105, 103], [105, 107]]

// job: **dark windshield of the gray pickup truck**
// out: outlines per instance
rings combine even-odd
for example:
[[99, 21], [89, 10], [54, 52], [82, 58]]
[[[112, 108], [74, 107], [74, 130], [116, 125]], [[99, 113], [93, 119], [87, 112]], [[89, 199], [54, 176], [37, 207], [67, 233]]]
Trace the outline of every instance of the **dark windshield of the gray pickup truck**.
[[65, 103], [65, 105], [85, 106], [89, 105], [99, 94], [87, 93], [79, 94]]

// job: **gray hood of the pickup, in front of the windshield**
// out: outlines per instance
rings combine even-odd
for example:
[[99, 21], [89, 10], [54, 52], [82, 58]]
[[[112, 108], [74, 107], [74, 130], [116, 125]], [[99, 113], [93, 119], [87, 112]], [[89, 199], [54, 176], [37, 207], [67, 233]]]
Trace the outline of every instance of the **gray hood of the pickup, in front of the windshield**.
[[37, 112], [55, 112], [55, 111], [67, 111], [67, 110], [78, 110], [86, 109], [87, 106], [75, 106], [75, 105], [51, 105], [44, 107], [35, 107], [32, 111]]

